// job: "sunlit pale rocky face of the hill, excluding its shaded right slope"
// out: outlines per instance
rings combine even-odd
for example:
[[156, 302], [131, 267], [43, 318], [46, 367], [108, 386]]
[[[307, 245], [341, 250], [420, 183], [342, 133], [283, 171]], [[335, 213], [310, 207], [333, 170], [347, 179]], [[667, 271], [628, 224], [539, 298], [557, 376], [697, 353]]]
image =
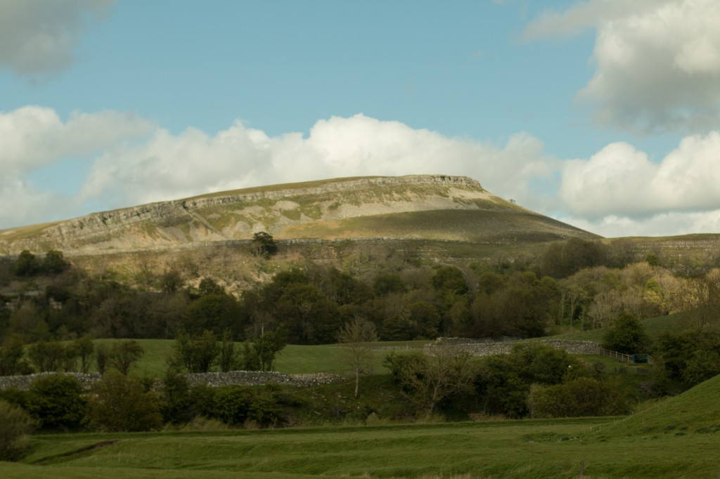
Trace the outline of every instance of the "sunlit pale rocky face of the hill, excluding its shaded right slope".
[[[441, 210], [505, 211], [542, 217], [493, 196], [478, 181], [464, 176], [340, 178], [213, 193], [8, 229], [0, 232], [0, 254], [57, 249], [66, 255], [86, 255], [220, 245], [246, 242], [259, 231], [285, 241], [361, 239], [378, 235], [364, 232], [358, 236], [356, 229], [346, 227], [343, 236], [338, 229], [352, 219]], [[423, 232], [415, 237], [423, 237]]]

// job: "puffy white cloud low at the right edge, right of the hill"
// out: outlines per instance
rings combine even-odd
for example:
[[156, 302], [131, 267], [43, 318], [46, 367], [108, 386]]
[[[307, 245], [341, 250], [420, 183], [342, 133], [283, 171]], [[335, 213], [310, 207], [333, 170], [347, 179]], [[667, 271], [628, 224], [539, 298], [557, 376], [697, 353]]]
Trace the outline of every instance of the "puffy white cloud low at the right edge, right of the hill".
[[720, 132], [685, 137], [660, 163], [626, 143], [564, 164], [560, 195], [577, 215], [635, 218], [720, 208]]

